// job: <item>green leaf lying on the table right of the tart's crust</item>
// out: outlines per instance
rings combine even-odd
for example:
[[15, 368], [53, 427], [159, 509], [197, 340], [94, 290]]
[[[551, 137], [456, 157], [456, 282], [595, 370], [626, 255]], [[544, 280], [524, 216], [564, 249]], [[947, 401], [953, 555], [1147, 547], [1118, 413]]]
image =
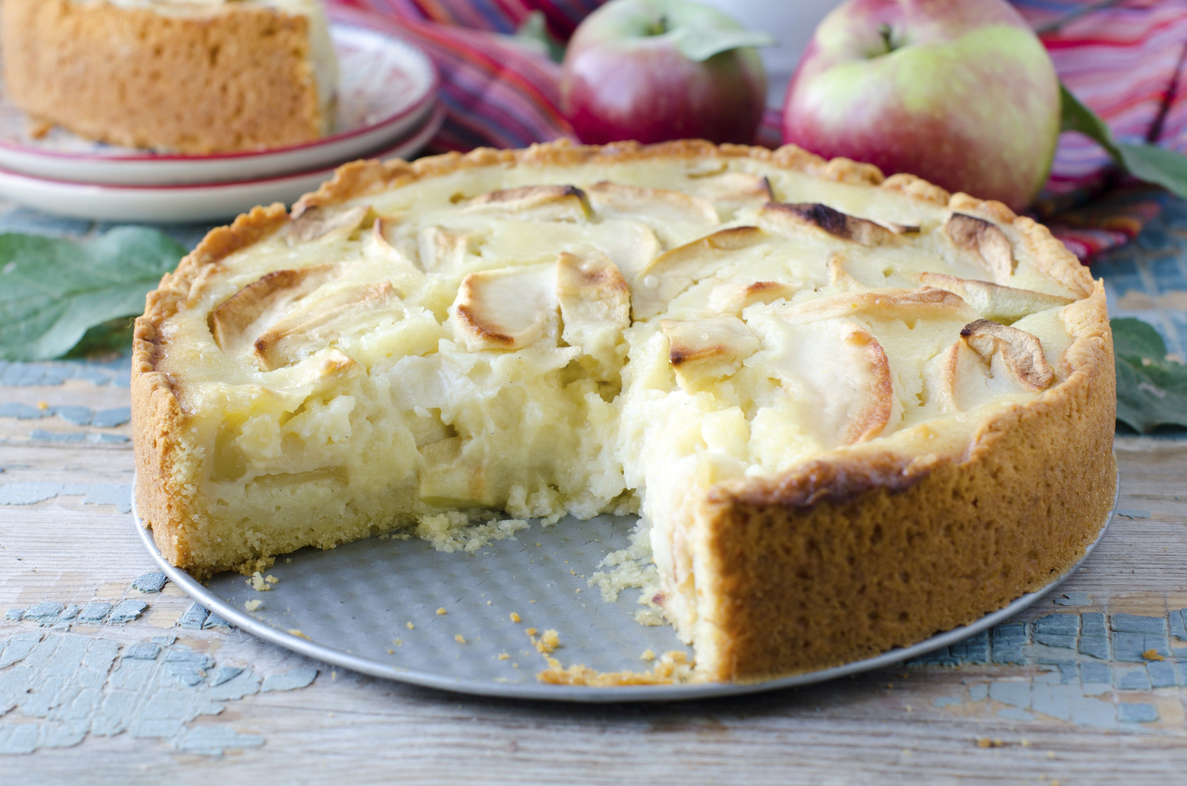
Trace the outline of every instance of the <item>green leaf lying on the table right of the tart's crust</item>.
[[1141, 319], [1111, 319], [1117, 419], [1135, 431], [1187, 427], [1187, 366], [1167, 360], [1159, 331]]

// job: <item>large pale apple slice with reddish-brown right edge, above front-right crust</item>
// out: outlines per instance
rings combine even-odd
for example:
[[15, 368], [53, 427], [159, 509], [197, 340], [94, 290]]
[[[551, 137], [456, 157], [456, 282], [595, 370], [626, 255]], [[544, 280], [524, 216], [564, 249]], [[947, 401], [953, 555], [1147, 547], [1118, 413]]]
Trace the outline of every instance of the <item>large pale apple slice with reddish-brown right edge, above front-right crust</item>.
[[848, 319], [794, 327], [773, 363], [811, 412], [810, 429], [825, 448], [874, 439], [890, 423], [894, 385], [886, 351]]

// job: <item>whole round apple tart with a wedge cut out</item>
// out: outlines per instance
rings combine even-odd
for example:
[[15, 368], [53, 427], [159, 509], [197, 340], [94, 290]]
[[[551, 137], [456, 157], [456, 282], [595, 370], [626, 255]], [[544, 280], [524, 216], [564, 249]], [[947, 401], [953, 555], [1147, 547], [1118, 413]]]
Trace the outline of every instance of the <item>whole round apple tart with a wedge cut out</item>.
[[1086, 268], [999, 203], [793, 146], [348, 164], [161, 280], [132, 384], [173, 564], [637, 512], [706, 680], [1001, 608], [1084, 553], [1116, 481]]

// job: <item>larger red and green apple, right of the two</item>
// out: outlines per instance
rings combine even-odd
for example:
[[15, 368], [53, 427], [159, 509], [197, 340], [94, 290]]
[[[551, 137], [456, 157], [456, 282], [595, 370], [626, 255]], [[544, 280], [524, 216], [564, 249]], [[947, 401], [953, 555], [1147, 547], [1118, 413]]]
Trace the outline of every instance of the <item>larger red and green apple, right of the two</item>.
[[1004, 0], [849, 0], [787, 89], [783, 141], [1015, 210], [1059, 138], [1059, 78]]

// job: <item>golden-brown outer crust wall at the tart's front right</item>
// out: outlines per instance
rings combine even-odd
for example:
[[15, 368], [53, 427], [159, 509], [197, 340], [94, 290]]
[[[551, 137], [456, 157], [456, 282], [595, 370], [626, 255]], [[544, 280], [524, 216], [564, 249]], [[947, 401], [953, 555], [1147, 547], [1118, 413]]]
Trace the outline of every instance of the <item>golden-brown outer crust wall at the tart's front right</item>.
[[705, 678], [762, 679], [909, 646], [1046, 585], [1084, 554], [1117, 481], [1099, 284], [1065, 315], [1079, 334], [1065, 362], [1078, 370], [991, 418], [966, 452], [913, 461], [868, 450], [713, 492], [691, 535], [710, 598], [696, 636]]

